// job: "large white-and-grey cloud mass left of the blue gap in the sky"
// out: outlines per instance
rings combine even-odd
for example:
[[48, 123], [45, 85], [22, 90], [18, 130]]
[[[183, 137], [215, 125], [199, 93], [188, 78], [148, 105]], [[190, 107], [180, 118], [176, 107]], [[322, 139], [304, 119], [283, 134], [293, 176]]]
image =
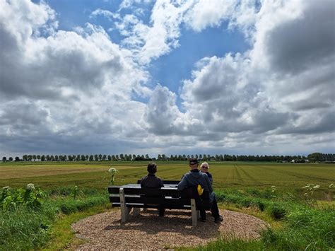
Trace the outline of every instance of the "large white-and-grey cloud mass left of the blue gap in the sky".
[[78, 137], [107, 146], [143, 133], [145, 105], [132, 96], [150, 95], [147, 72], [103, 28], [58, 30], [55, 16], [43, 2], [1, 1], [0, 148], [21, 139], [27, 149], [46, 139], [74, 145]]

